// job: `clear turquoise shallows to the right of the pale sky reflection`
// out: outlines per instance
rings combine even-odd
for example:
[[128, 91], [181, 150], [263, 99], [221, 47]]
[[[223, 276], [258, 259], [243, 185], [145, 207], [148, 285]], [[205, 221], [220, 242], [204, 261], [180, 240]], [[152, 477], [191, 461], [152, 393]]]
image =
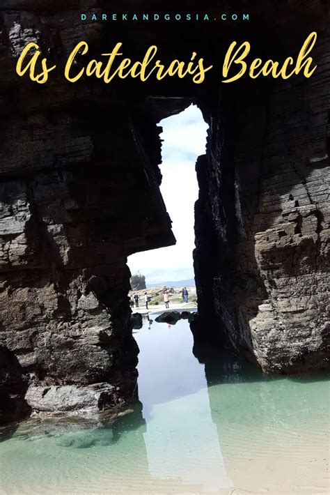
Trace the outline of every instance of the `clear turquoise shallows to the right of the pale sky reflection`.
[[322, 380], [311, 378], [306, 389], [299, 386], [306, 379], [265, 376], [226, 351], [202, 353], [212, 421], [233, 485], [276, 494], [292, 487], [308, 494], [304, 486], [321, 485], [329, 432]]

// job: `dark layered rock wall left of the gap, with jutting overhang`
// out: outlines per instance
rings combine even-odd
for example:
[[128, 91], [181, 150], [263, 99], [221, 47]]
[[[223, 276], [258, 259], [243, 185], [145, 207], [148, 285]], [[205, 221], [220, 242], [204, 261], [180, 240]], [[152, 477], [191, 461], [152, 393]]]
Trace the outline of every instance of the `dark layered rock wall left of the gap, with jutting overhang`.
[[[119, 96], [61, 75], [47, 87], [15, 76], [17, 50], [31, 40], [64, 61], [84, 37], [72, 12], [15, 6], [2, 18], [0, 342], [17, 367], [1, 361], [1, 385], [25, 395], [22, 414], [93, 414], [136, 390], [127, 255], [174, 243], [171, 220]], [[148, 134], [159, 145], [158, 133]]]

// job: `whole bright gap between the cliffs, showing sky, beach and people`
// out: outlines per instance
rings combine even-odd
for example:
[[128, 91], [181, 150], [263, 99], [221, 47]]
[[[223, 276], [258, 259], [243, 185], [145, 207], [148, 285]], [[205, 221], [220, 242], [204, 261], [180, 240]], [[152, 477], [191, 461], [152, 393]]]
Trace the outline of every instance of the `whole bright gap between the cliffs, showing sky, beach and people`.
[[198, 156], [205, 153], [207, 124], [201, 110], [190, 105], [180, 114], [163, 119], [159, 125], [163, 131], [160, 135], [163, 141], [160, 190], [172, 220], [176, 244], [128, 258], [132, 273], [129, 293], [132, 311], [145, 316], [156, 310], [196, 309], [193, 250], [198, 181], [195, 164]]

